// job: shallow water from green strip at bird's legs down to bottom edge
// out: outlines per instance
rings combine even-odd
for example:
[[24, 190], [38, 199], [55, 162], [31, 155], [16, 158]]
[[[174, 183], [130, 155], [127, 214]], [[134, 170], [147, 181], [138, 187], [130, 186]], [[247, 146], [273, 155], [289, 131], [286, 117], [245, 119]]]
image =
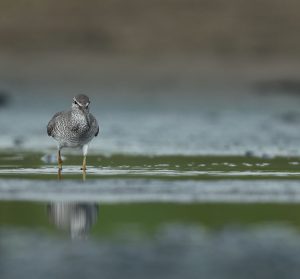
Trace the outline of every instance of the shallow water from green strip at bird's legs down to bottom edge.
[[297, 157], [81, 160], [2, 152], [1, 278], [298, 278]]

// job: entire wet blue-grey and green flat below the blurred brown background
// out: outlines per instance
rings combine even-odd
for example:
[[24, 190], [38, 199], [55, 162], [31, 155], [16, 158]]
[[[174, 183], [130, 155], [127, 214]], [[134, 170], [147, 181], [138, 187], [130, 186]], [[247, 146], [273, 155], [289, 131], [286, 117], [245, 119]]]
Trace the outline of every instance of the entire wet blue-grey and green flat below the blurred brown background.
[[1, 279], [299, 277], [295, 99], [95, 101], [87, 173], [64, 150], [59, 175], [51, 98], [0, 110]]

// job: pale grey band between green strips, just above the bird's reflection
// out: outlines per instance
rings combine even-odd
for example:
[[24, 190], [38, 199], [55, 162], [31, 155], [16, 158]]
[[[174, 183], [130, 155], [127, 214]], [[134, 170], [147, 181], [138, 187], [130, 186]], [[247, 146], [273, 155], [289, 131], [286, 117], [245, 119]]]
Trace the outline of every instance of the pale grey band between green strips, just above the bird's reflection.
[[300, 185], [291, 180], [0, 179], [0, 200], [299, 203]]

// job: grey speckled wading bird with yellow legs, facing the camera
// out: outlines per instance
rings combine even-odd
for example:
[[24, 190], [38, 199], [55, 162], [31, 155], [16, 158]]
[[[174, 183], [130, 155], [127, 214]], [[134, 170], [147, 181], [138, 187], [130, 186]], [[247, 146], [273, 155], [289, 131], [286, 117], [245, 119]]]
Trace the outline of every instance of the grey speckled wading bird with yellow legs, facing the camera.
[[47, 125], [48, 136], [57, 141], [58, 169], [62, 170], [61, 150], [65, 147], [81, 148], [82, 170], [86, 171], [86, 157], [91, 140], [98, 136], [99, 125], [89, 111], [90, 99], [84, 94], [73, 97], [70, 110], [57, 112]]

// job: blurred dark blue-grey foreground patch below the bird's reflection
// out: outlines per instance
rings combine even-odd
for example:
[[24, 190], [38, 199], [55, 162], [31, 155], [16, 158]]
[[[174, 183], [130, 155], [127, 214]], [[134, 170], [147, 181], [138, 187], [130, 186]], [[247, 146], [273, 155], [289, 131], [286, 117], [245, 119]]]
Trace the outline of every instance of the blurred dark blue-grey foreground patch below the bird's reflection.
[[[173, 224], [153, 239], [69, 241], [0, 229], [1, 278], [298, 278], [300, 237], [290, 227], [209, 233]], [[17, 268], [16, 268], [17, 267]]]

